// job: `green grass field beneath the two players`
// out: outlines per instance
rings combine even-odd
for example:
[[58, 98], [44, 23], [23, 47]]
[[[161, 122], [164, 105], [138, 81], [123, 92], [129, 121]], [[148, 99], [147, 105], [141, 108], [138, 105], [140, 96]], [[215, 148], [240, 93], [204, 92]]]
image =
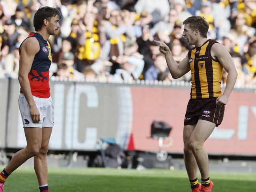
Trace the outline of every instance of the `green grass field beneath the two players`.
[[[0, 166], [0, 170], [4, 167]], [[200, 177], [198, 176], [198, 179]], [[255, 192], [256, 173], [211, 172], [213, 192]], [[179, 170], [49, 168], [50, 192], [190, 192], [187, 173]], [[21, 166], [7, 179], [4, 192], [38, 192], [34, 169]]]

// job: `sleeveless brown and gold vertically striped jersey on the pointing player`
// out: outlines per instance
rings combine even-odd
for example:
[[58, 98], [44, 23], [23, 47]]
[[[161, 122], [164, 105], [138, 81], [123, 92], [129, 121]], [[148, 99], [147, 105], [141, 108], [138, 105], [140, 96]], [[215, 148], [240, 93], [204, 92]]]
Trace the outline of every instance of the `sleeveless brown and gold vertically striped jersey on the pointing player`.
[[218, 43], [208, 39], [201, 47], [189, 50], [192, 75], [191, 99], [220, 97], [222, 65], [211, 56], [211, 46]]

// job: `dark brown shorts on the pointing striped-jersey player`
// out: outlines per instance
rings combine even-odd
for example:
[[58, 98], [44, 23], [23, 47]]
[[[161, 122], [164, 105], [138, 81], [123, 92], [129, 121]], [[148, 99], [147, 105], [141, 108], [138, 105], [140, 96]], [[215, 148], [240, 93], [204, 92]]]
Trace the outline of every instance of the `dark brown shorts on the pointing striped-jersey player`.
[[225, 106], [216, 105], [217, 97], [190, 99], [187, 104], [184, 125], [195, 125], [198, 119], [210, 121], [218, 127], [223, 119]]

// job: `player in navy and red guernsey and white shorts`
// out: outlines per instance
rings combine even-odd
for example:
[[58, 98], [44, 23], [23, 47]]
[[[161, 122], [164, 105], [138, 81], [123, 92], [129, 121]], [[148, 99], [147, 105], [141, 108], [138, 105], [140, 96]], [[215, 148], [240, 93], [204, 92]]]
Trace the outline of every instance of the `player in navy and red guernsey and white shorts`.
[[34, 157], [40, 192], [49, 192], [47, 152], [54, 121], [49, 86], [52, 56], [47, 39], [56, 34], [60, 17], [58, 9], [40, 7], [34, 16], [36, 33], [30, 33], [19, 48], [19, 108], [27, 146], [18, 151], [0, 173], [0, 192], [4, 191], [7, 177], [31, 157]]

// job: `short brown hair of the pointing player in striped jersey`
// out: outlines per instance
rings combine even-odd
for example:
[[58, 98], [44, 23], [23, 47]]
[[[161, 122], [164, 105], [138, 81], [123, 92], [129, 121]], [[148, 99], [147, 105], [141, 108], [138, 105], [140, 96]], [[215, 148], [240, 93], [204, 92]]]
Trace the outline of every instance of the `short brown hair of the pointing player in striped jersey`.
[[183, 21], [183, 24], [189, 24], [189, 28], [192, 30], [198, 29], [202, 37], [207, 38], [207, 32], [209, 30], [209, 24], [206, 21], [206, 18], [201, 16], [191, 16]]

